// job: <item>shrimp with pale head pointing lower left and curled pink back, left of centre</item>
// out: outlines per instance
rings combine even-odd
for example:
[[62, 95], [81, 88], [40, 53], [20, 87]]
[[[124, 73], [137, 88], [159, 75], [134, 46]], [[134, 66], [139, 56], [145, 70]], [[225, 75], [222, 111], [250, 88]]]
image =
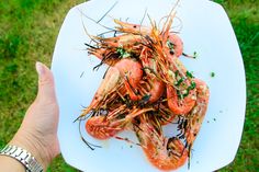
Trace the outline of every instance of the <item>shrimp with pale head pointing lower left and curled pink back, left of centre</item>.
[[91, 111], [106, 108], [108, 103], [126, 93], [132, 100], [136, 100], [135, 88], [142, 80], [142, 65], [134, 59], [122, 59], [113, 67], [110, 67], [90, 105], [83, 110], [82, 117]]

